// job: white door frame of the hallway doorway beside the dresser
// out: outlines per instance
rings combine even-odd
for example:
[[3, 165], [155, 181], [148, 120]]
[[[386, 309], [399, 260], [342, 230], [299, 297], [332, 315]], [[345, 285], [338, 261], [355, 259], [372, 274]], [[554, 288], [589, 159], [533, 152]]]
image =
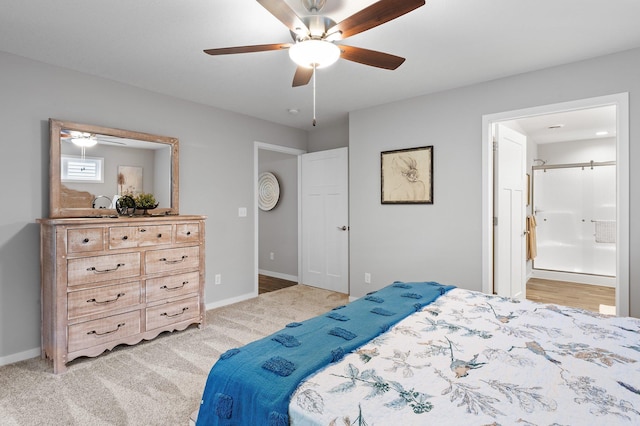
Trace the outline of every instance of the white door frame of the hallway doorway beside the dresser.
[[258, 271], [259, 271], [259, 249], [260, 249], [260, 229], [259, 229], [259, 212], [258, 212], [258, 196], [259, 196], [259, 188], [258, 188], [258, 176], [259, 176], [259, 153], [260, 150], [265, 151], [275, 151], [280, 152], [282, 154], [290, 154], [295, 155], [297, 157], [298, 162], [298, 182], [297, 182], [297, 192], [298, 192], [298, 283], [300, 283], [300, 274], [302, 273], [302, 200], [301, 191], [301, 155], [306, 154], [307, 151], [297, 148], [290, 148], [288, 146], [274, 145], [265, 142], [254, 142], [253, 143], [253, 289], [254, 293], [258, 295]]

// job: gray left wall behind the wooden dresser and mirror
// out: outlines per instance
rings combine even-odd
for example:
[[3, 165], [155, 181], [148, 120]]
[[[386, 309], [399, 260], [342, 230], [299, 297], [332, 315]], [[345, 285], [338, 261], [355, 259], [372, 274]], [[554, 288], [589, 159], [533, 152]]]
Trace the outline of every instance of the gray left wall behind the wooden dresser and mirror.
[[180, 212], [208, 216], [206, 302], [253, 293], [254, 221], [238, 207], [253, 211], [254, 142], [306, 149], [307, 132], [2, 52], [0, 93], [0, 364], [40, 347], [50, 117], [179, 138]]

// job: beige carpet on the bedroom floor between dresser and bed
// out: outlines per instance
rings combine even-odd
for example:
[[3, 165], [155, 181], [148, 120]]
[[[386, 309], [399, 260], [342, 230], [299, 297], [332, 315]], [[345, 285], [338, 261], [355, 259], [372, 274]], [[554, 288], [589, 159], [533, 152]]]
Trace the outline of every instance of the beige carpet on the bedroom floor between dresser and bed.
[[75, 360], [61, 375], [40, 358], [0, 367], [0, 424], [186, 425], [221, 353], [345, 303], [296, 285], [208, 311], [202, 330]]

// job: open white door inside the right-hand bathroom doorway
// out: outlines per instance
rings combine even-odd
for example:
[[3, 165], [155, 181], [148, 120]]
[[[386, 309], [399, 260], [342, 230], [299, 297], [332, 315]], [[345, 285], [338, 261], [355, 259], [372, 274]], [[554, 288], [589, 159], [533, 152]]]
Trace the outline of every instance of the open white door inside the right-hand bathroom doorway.
[[494, 284], [498, 295], [526, 298], [527, 138], [495, 129]]

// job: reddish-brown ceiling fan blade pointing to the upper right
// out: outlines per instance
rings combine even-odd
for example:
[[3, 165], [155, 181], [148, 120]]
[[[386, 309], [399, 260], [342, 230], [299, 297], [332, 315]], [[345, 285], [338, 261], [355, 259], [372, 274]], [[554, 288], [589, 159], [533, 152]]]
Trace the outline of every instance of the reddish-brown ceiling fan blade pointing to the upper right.
[[425, 0], [380, 0], [329, 28], [327, 34], [340, 31], [345, 39], [396, 19], [424, 4]]

